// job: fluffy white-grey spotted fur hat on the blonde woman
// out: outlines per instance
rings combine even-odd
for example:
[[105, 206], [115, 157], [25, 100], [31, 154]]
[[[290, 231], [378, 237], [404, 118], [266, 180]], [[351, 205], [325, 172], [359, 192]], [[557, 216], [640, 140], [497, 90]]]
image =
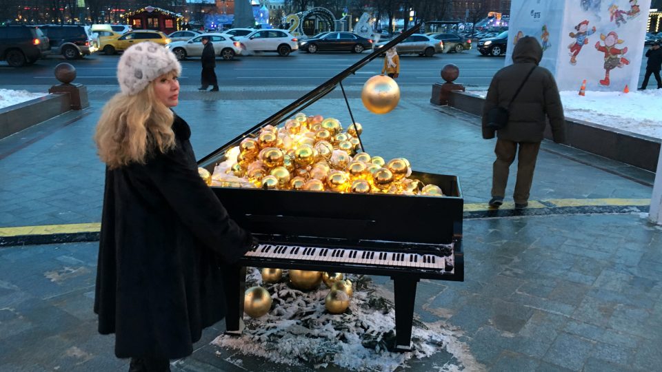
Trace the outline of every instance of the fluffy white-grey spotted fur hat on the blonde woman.
[[117, 80], [124, 94], [138, 94], [157, 77], [176, 71], [181, 74], [181, 65], [170, 50], [145, 41], [131, 45], [124, 51], [117, 65]]

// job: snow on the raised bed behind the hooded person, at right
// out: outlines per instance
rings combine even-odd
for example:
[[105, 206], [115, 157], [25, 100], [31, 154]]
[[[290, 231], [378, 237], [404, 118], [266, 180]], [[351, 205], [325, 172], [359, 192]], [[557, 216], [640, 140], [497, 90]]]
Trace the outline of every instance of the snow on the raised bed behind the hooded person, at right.
[[[467, 93], [483, 98], [487, 94], [485, 90]], [[662, 138], [662, 89], [578, 93], [561, 92], [566, 117]]]

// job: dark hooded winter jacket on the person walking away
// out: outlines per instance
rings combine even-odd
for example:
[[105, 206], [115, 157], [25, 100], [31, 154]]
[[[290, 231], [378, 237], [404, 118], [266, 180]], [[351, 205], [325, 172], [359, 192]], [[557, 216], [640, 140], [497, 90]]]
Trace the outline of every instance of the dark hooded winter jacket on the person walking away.
[[508, 125], [496, 131], [496, 136], [513, 142], [541, 142], [546, 116], [554, 142], [565, 141], [565, 118], [559, 89], [552, 73], [538, 66], [542, 56], [543, 50], [534, 38], [523, 37], [517, 41], [512, 51], [513, 64], [496, 72], [490, 83], [483, 106], [483, 138], [494, 138], [495, 133], [487, 126], [488, 111], [497, 106], [508, 107], [525, 76], [537, 66], [509, 107]]

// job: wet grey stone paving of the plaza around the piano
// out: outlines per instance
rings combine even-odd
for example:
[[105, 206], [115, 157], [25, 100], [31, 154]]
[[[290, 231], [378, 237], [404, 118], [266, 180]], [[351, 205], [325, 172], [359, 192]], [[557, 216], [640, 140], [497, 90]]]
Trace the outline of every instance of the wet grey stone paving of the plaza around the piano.
[[[12, 227], [99, 223], [103, 165], [92, 134], [114, 89], [94, 87], [87, 110], [0, 141], [0, 235]], [[176, 111], [191, 125], [201, 158], [305, 92], [188, 90]], [[481, 138], [479, 118], [430, 105], [429, 89], [402, 87], [399, 107], [383, 116], [363, 108], [356, 88], [349, 94], [366, 152], [459, 176], [467, 204], [465, 282], [423, 280], [415, 313], [458, 336], [480, 364], [466, 370], [659, 370], [662, 228], [645, 213], [653, 174], [544, 142], [532, 208], [512, 213], [511, 176], [506, 211], [487, 211], [494, 140]], [[304, 112], [350, 121], [337, 92]], [[126, 371], [128, 362], [114, 358], [112, 337], [97, 334], [96, 265], [96, 242], [0, 248], [0, 371]], [[391, 286], [389, 278], [375, 281]], [[172, 370], [312, 369], [210, 345], [223, 327], [207, 329], [192, 357], [174, 361]], [[399, 371], [443, 371], [445, 364], [457, 360], [443, 351]]]

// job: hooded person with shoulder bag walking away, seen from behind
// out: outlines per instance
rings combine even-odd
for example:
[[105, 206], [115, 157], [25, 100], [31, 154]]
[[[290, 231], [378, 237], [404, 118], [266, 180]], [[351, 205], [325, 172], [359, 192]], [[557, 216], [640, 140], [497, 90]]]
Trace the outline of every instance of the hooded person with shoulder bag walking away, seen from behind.
[[565, 141], [565, 118], [559, 89], [552, 73], [540, 66], [543, 50], [534, 37], [523, 37], [512, 51], [513, 64], [502, 68], [492, 78], [483, 107], [483, 138], [494, 138], [495, 130], [488, 127], [488, 112], [493, 107], [508, 107], [524, 77], [534, 69], [521, 92], [509, 107], [508, 124], [496, 131], [492, 167], [492, 199], [490, 205], [503, 203], [510, 165], [517, 156], [517, 180], [513, 194], [515, 207], [528, 205], [529, 193], [536, 167], [540, 143], [543, 141], [546, 120], [549, 118], [554, 142]]

